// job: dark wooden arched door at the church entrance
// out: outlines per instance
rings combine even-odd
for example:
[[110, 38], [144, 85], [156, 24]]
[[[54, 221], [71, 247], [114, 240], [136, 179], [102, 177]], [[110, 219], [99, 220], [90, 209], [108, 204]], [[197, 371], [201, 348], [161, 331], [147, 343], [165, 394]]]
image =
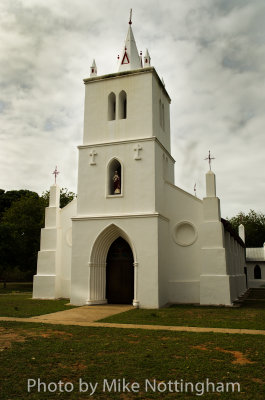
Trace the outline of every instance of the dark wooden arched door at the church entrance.
[[131, 304], [134, 291], [133, 254], [129, 244], [119, 237], [109, 248], [106, 270], [108, 303]]

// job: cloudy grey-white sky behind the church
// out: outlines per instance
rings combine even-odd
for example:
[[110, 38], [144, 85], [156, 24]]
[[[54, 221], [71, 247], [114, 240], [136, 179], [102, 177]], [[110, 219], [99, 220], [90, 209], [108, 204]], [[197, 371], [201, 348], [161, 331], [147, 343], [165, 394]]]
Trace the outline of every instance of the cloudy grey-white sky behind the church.
[[210, 149], [222, 216], [265, 212], [264, 0], [1, 0], [0, 188], [76, 192], [83, 78], [116, 72], [129, 9], [138, 50], [171, 96], [175, 183], [205, 192]]

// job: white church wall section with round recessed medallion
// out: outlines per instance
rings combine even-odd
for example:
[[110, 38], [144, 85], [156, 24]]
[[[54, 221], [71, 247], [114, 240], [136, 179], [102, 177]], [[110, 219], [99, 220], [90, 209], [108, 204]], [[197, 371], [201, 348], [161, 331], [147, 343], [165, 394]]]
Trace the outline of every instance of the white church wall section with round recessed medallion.
[[199, 241], [202, 202], [183, 190], [164, 182], [164, 215], [168, 224], [168, 301], [199, 303]]

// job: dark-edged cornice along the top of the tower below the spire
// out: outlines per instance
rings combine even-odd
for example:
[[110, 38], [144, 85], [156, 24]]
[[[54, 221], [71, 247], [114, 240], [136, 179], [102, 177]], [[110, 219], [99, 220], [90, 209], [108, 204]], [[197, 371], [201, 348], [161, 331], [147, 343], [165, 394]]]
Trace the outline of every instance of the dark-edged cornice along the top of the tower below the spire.
[[163, 92], [165, 93], [166, 97], [168, 98], [169, 103], [171, 103], [171, 98], [168, 94], [168, 92], [165, 89], [165, 86], [161, 79], [159, 78], [158, 73], [156, 72], [156, 69], [154, 67], [146, 67], [146, 68], [141, 68], [141, 69], [135, 69], [132, 71], [121, 71], [121, 72], [115, 72], [113, 74], [107, 74], [107, 75], [101, 75], [101, 76], [93, 76], [91, 78], [85, 78], [83, 79], [84, 84], [88, 85], [90, 83], [98, 82], [98, 81], [103, 81], [103, 80], [108, 80], [108, 79], [117, 79], [117, 78], [125, 78], [128, 76], [132, 75], [140, 75], [140, 74], [147, 74], [147, 73], [152, 73], [153, 76], [156, 78], [159, 86], [163, 89]]

